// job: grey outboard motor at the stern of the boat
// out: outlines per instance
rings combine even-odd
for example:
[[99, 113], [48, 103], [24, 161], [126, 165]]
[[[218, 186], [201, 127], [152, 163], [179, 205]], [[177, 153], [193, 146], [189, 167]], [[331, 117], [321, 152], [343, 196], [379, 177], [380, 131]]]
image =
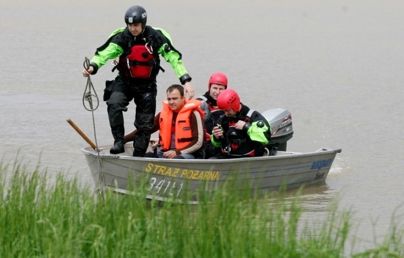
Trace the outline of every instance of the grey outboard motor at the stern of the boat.
[[276, 147], [278, 151], [286, 151], [286, 143], [293, 136], [292, 115], [283, 108], [271, 108], [261, 113], [271, 125], [271, 142], [267, 148]]

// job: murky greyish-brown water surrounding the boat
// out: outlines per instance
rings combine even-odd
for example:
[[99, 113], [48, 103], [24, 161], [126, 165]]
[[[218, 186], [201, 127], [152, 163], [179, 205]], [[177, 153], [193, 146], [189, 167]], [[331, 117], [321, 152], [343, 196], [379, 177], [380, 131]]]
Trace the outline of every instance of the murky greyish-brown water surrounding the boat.
[[[292, 113], [288, 150], [342, 148], [326, 183], [305, 189], [315, 221], [331, 200], [354, 212], [356, 250], [375, 246], [392, 216], [403, 222], [404, 3], [400, 0], [3, 0], [0, 8], [0, 156], [47, 173], [78, 175], [93, 187], [71, 118], [94, 140], [82, 105], [84, 57], [124, 26], [125, 10], [148, 10], [148, 24], [170, 33], [197, 94], [211, 73], [229, 77], [247, 106]], [[178, 83], [168, 63], [159, 96]], [[92, 76], [102, 96], [114, 75]], [[160, 105], [158, 109], [160, 109]], [[106, 105], [94, 111], [98, 144], [111, 143]], [[134, 104], [125, 114], [132, 129]], [[128, 130], [129, 130], [128, 129]], [[291, 191], [293, 194], [293, 191]], [[401, 205], [401, 206], [400, 206]], [[394, 213], [394, 210], [398, 211]]]

